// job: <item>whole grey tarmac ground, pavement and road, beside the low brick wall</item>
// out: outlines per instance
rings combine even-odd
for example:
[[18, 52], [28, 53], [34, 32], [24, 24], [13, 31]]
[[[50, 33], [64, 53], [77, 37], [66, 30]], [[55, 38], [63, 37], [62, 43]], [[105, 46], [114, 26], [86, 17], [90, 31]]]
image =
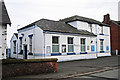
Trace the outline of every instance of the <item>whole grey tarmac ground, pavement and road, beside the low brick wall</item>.
[[[90, 60], [59, 62], [56, 73], [18, 76], [11, 78], [11, 80], [118, 80], [119, 57], [111, 56]], [[113, 73], [115, 76], [111, 77], [111, 75], [114, 75]]]

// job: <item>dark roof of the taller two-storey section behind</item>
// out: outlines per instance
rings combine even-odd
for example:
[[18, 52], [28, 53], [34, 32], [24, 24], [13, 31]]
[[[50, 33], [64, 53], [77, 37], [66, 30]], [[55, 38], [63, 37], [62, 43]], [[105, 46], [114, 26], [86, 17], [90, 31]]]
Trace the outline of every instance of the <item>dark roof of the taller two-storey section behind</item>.
[[64, 18], [64, 19], [60, 19], [60, 21], [63, 21], [63, 22], [66, 22], [66, 23], [72, 22], [72, 21], [83, 21], [83, 22], [87, 22], [87, 23], [91, 23], [91, 24], [98, 24], [100, 26], [109, 26], [110, 27], [110, 25], [108, 25], [108, 24], [104, 24], [104, 23], [99, 22], [97, 20], [82, 17], [82, 16], [78, 16], [78, 15], [68, 17], [68, 18]]

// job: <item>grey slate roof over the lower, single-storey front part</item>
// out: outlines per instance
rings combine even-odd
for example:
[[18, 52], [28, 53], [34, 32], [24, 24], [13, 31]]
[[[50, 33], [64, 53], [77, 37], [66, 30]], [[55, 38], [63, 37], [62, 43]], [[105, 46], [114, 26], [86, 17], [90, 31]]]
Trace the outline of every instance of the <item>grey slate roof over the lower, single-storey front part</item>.
[[51, 31], [51, 32], [61, 32], [61, 33], [72, 33], [72, 34], [81, 34], [81, 35], [90, 35], [90, 36], [96, 36], [93, 33], [90, 33], [86, 30], [78, 30], [77, 28], [74, 28], [73, 26], [66, 24], [62, 21], [53, 21], [48, 19], [41, 19], [34, 23], [31, 23], [23, 28], [18, 29], [22, 30], [27, 27], [30, 27], [32, 25], [37, 25], [40, 27], [43, 31]]

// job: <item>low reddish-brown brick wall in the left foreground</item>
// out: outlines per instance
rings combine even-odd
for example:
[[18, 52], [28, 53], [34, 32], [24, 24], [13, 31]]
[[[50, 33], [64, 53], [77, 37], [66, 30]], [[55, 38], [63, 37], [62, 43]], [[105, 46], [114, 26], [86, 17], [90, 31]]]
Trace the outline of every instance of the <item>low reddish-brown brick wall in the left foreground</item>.
[[57, 59], [2, 60], [2, 78], [57, 72]]

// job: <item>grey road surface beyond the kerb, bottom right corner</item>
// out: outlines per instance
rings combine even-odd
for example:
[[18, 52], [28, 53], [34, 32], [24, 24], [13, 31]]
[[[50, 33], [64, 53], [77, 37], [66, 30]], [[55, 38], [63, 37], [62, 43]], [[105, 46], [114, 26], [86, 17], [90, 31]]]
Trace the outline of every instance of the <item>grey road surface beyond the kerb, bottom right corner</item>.
[[72, 77], [64, 80], [120, 80], [120, 75], [118, 74], [119, 71], [120, 69], [113, 69], [85, 76]]

